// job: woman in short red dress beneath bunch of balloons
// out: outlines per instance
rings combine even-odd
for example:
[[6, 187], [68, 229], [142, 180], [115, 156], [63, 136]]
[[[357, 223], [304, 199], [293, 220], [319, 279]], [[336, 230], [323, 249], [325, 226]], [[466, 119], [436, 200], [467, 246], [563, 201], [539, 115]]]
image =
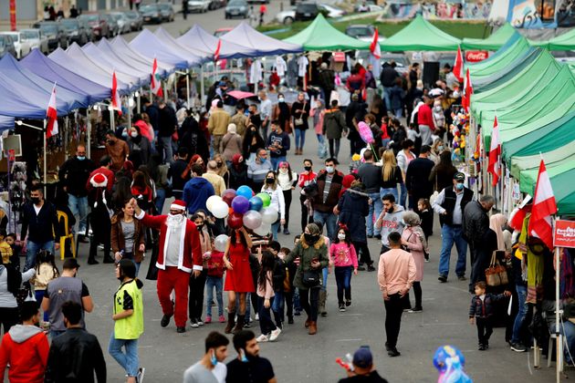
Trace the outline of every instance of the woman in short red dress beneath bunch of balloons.
[[[227, 273], [225, 274], [224, 291], [227, 291], [228, 313], [225, 334], [230, 334], [232, 328], [234, 329], [234, 334], [242, 330], [246, 316], [246, 293], [254, 293], [256, 291], [252, 270], [249, 267], [251, 248], [252, 240], [244, 227], [232, 232], [225, 246], [224, 264], [227, 268]], [[237, 324], [235, 324], [236, 295], [239, 296]]]

